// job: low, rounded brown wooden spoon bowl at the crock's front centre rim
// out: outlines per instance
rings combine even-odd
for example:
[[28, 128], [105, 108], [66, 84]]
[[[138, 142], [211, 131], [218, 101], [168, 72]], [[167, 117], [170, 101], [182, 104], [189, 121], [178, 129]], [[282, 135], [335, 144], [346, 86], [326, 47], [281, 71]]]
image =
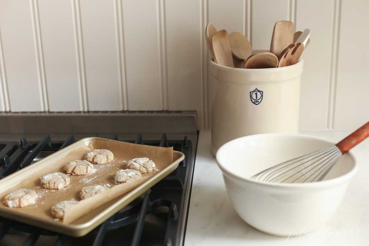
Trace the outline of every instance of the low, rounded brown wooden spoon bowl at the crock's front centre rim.
[[265, 51], [254, 53], [245, 61], [245, 68], [271, 68], [277, 67], [277, 65], [277, 56]]

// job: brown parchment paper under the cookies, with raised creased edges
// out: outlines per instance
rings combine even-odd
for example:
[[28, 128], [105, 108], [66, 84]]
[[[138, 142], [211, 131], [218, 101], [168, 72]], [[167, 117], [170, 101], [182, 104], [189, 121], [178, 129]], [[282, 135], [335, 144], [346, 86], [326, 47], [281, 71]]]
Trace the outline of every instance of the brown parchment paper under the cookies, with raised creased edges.
[[[114, 160], [107, 164], [93, 164], [94, 171], [90, 174], [84, 176], [72, 176], [70, 177], [70, 184], [61, 190], [48, 190], [44, 189], [40, 183], [40, 177], [44, 174], [61, 172], [63, 171], [63, 166], [71, 162], [72, 160], [83, 160], [83, 157], [87, 152], [92, 149], [108, 149], [114, 153]], [[153, 171], [149, 174], [142, 174], [141, 179], [134, 181], [129, 181], [123, 184], [114, 184], [115, 173], [119, 169], [125, 169], [128, 160], [136, 157], [148, 157], [153, 160], [156, 164], [157, 171]], [[80, 201], [77, 205], [73, 206], [65, 212], [63, 223], [70, 223], [82, 215], [85, 215], [92, 211], [93, 209], [100, 207], [108, 201], [113, 200], [134, 188], [138, 187], [140, 184], [144, 183], [146, 180], [154, 176], [160, 170], [169, 166], [173, 162], [173, 148], [163, 148], [148, 145], [138, 145], [134, 143], [127, 142], [115, 142], [115, 141], [101, 141], [94, 140], [91, 142], [90, 146], [80, 146], [72, 150], [63, 158], [58, 161], [51, 163], [49, 166], [39, 170], [36, 173], [30, 174], [27, 179], [22, 180], [16, 186], [13, 186], [3, 193], [0, 194], [1, 202], [0, 207], [5, 207], [7, 209], [17, 209], [18, 212], [28, 214], [43, 218], [55, 220], [51, 216], [51, 207], [58, 201], [63, 200], [77, 200], [79, 199], [79, 193], [85, 186], [91, 185], [104, 185], [110, 189], [107, 192], [99, 193], [93, 197], [87, 198]], [[36, 163], [37, 165], [37, 163]], [[8, 208], [2, 201], [5, 195], [18, 188], [30, 188], [34, 189], [38, 194], [38, 198], [35, 204], [28, 205], [24, 208]]]

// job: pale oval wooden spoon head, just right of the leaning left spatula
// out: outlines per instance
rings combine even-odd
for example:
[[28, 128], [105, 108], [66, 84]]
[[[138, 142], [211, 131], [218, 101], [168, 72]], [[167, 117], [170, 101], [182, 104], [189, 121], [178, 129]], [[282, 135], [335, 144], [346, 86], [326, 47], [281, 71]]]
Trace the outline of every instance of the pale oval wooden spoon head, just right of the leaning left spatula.
[[246, 60], [251, 55], [251, 44], [241, 32], [232, 32], [228, 38], [230, 39], [232, 54], [236, 58]]

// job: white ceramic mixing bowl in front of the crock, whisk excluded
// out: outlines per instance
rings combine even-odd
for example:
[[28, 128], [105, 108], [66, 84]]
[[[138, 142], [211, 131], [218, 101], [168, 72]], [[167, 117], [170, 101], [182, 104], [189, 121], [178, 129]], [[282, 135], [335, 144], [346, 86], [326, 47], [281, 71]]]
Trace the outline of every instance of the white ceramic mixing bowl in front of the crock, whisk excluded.
[[249, 177], [334, 144], [297, 134], [258, 134], [225, 143], [216, 158], [238, 215], [249, 225], [272, 235], [300, 235], [323, 228], [339, 207], [355, 174], [355, 159], [350, 153], [342, 156], [320, 182], [266, 183]]

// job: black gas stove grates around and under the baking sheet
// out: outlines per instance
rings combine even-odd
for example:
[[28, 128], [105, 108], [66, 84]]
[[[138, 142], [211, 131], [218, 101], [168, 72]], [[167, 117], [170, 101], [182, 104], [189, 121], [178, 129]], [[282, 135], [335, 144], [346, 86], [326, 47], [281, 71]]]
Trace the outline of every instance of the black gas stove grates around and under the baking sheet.
[[[97, 136], [97, 135], [96, 135]], [[106, 240], [106, 234], [109, 231], [117, 231], [122, 229], [124, 238], [130, 236], [126, 245], [140, 245], [142, 239], [142, 230], [145, 226], [145, 218], [148, 214], [159, 214], [161, 218], [166, 220], [166, 228], [159, 245], [178, 245], [178, 235], [181, 226], [180, 218], [183, 213], [184, 205], [184, 188], [187, 185], [187, 176], [189, 175], [189, 161], [192, 153], [192, 141], [187, 136], [183, 140], [168, 140], [165, 134], [160, 140], [142, 139], [142, 135], [138, 134], [134, 141], [120, 140], [115, 135], [114, 140], [125, 141], [137, 144], [145, 144], [152, 146], [171, 147], [174, 150], [183, 152], [185, 159], [179, 164], [178, 168], [171, 174], [159, 181], [149, 191], [147, 191], [141, 200], [139, 198], [132, 202], [134, 205], [129, 209], [123, 209], [111, 218], [107, 219], [103, 224], [95, 228], [86, 236], [78, 239], [87, 239], [91, 245], [109, 245]], [[44, 136], [41, 141], [27, 141], [25, 138], [18, 142], [0, 142], [0, 179], [8, 176], [15, 171], [29, 166], [38, 159], [56, 152], [75, 142], [75, 137], [69, 135], [65, 141], [52, 141], [49, 135]], [[41, 158], [40, 158], [41, 156]], [[192, 175], [192, 174], [190, 174]], [[164, 209], [163, 209], [164, 208]], [[156, 210], [160, 212], [156, 212]], [[164, 211], [164, 213], [163, 213]], [[183, 218], [182, 218], [183, 219]], [[1, 239], [8, 233], [10, 229], [20, 232], [29, 233], [24, 240], [23, 245], [35, 245], [41, 235], [54, 236], [54, 245], [67, 245], [67, 242], [73, 242], [73, 237], [62, 235], [60, 233], [48, 231], [35, 226], [16, 222], [11, 219], [0, 217], [0, 245]], [[134, 225], [132, 235], [126, 235], [124, 227]], [[74, 244], [74, 243], [72, 243]], [[123, 244], [124, 245], [124, 244]]]

